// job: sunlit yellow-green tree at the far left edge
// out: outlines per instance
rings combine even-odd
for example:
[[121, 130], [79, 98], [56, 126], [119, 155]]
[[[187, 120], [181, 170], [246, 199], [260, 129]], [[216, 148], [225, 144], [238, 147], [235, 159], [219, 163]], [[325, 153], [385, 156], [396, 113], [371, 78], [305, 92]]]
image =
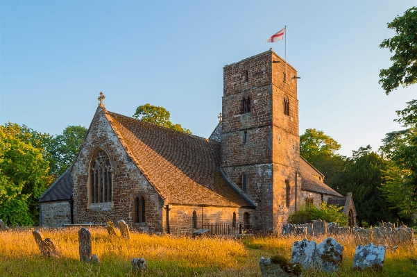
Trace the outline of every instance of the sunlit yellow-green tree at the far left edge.
[[39, 221], [39, 196], [51, 184], [49, 162], [28, 128], [0, 126], [0, 218], [31, 226]]

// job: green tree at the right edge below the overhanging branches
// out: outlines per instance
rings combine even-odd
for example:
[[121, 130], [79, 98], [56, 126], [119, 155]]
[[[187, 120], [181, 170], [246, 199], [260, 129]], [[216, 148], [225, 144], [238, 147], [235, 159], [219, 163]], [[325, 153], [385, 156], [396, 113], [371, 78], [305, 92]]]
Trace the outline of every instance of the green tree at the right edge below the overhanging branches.
[[392, 162], [387, 169], [384, 194], [402, 217], [417, 212], [417, 100], [407, 102], [407, 108], [397, 111], [402, 131], [386, 134], [381, 150]]

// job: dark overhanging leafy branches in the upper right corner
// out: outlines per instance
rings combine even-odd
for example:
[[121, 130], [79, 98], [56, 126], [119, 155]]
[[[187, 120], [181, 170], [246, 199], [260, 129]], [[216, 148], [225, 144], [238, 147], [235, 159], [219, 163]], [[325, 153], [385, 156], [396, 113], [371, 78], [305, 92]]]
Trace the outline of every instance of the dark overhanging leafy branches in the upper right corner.
[[384, 40], [381, 48], [387, 48], [394, 55], [389, 69], [380, 72], [380, 84], [389, 94], [400, 85], [407, 87], [417, 82], [417, 8], [406, 10], [404, 15], [397, 16], [388, 28], [395, 31], [395, 35]]

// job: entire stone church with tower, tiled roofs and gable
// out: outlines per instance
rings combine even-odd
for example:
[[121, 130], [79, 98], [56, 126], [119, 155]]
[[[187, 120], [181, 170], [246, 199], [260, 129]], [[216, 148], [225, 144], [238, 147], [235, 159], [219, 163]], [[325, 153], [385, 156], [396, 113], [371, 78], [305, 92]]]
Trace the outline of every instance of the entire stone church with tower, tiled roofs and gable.
[[355, 225], [352, 195], [300, 156], [296, 69], [270, 49], [223, 72], [221, 121], [208, 139], [110, 112], [101, 94], [73, 165], [39, 199], [40, 224], [270, 234], [301, 205], [325, 201]]

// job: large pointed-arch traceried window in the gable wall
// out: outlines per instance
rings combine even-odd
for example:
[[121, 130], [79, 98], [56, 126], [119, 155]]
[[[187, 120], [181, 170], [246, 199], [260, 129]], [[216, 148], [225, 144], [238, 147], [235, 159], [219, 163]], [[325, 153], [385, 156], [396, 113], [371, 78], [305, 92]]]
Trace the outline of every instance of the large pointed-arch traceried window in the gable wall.
[[112, 201], [112, 165], [105, 151], [101, 150], [92, 158], [90, 170], [91, 203]]

